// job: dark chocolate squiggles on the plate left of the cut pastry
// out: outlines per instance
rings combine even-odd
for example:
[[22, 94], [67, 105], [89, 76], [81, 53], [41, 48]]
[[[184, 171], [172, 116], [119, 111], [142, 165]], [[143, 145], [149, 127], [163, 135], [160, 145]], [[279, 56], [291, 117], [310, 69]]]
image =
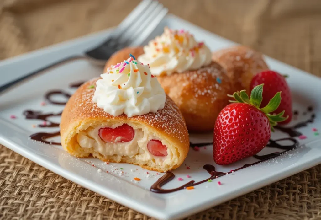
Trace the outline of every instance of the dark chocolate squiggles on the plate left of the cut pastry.
[[[69, 85], [69, 87], [71, 88], [78, 88], [79, 86], [81, 86], [84, 82], [77, 82], [77, 83], [72, 83]], [[62, 95], [64, 98], [66, 98], [66, 100], [68, 100], [70, 98], [70, 94], [67, 92], [64, 92], [62, 90], [53, 90], [53, 91], [49, 91], [45, 94], [45, 98], [46, 100], [51, 103], [51, 104], [55, 104], [55, 105], [65, 105], [67, 103], [67, 101], [63, 102], [63, 101], [53, 101], [53, 96], [54, 95]], [[26, 110], [23, 112], [24, 116], [26, 117], [26, 119], [41, 119], [43, 121], [49, 122], [46, 124], [40, 124], [38, 125], [39, 127], [45, 128], [45, 127], [59, 127], [59, 123], [55, 123], [52, 122], [50, 120], [48, 120], [48, 117], [51, 116], [61, 116], [62, 112], [59, 113], [47, 113], [47, 114], [43, 114], [41, 111], [32, 111], [32, 110]], [[61, 145], [61, 143], [58, 142], [51, 142], [51, 141], [47, 141], [46, 139], [50, 138], [50, 137], [55, 137], [55, 136], [59, 136], [60, 135], [60, 131], [54, 132], [54, 133], [48, 133], [48, 132], [39, 132], [39, 133], [35, 133], [30, 135], [30, 139], [32, 140], [36, 140], [36, 141], [40, 141], [43, 142], [45, 144], [52, 144], [52, 145]]]

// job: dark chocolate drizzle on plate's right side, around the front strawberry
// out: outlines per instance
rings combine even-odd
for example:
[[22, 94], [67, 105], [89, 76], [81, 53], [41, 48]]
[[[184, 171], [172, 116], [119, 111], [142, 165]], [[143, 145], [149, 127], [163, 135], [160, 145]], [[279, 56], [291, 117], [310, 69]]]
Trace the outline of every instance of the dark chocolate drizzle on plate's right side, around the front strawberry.
[[[312, 111], [312, 107], [308, 107], [308, 111]], [[295, 129], [298, 129], [298, 128], [301, 128], [301, 127], [306, 127], [308, 125], [308, 123], [312, 123], [314, 121], [314, 118], [315, 118], [315, 115], [312, 114], [310, 119], [308, 119], [308, 120], [306, 120], [304, 122], [300, 122], [300, 123], [296, 124], [295, 126], [293, 126], [291, 128], [283, 128], [283, 127], [279, 127], [278, 126], [277, 129], [281, 130], [282, 132], [287, 133], [291, 137], [300, 136], [301, 133], [296, 131]], [[152, 192], [155, 192], [155, 193], [175, 192], [175, 191], [178, 191], [178, 190], [181, 190], [181, 189], [186, 189], [186, 187], [196, 186], [198, 184], [207, 182], [208, 180], [213, 180], [213, 179], [219, 178], [221, 176], [224, 176], [226, 174], [230, 174], [232, 172], [239, 171], [239, 170], [244, 169], [246, 167], [253, 166], [253, 165], [258, 164], [258, 163], [262, 163], [262, 162], [267, 161], [269, 159], [272, 159], [274, 157], [278, 157], [281, 154], [284, 154], [287, 151], [291, 151], [294, 148], [297, 148], [299, 146], [299, 142], [296, 139], [291, 138], [291, 137], [281, 138], [281, 139], [277, 139], [277, 140], [271, 140], [270, 139], [266, 146], [279, 148], [279, 149], [282, 149], [284, 151], [282, 151], [282, 152], [274, 152], [274, 153], [271, 153], [271, 154], [265, 154], [265, 155], [261, 155], [261, 156], [260, 155], [254, 155], [253, 157], [259, 160], [259, 161], [255, 162], [255, 163], [245, 164], [242, 167], [239, 167], [238, 169], [235, 169], [235, 170], [231, 170], [230, 172], [227, 172], [227, 173], [218, 172], [218, 171], [215, 170], [215, 167], [213, 165], [206, 164], [206, 165], [203, 166], [203, 169], [206, 170], [211, 175], [209, 178], [207, 178], [205, 180], [201, 180], [199, 182], [195, 182], [194, 180], [192, 180], [192, 181], [189, 181], [188, 183], [186, 183], [186, 184], [184, 184], [184, 185], [182, 185], [182, 186], [180, 186], [178, 188], [174, 188], [174, 189], [162, 189], [163, 185], [168, 183], [170, 180], [173, 180], [174, 177], [175, 177], [174, 173], [167, 172], [167, 173], [165, 173], [165, 175], [163, 175], [161, 178], [159, 178], [151, 186], [150, 190]], [[280, 144], [278, 144], [278, 142], [280, 142], [280, 141], [291, 141], [292, 144], [291, 145], [280, 145]], [[190, 146], [191, 147], [195, 147], [195, 146], [201, 147], [201, 146], [211, 145], [211, 144], [213, 144], [213, 143], [190, 144]]]

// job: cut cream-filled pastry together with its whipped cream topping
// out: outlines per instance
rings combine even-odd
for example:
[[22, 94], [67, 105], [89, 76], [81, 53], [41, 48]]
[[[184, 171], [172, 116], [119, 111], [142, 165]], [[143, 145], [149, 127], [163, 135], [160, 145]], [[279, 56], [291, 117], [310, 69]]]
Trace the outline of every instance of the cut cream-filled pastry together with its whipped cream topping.
[[189, 150], [186, 124], [149, 67], [128, 59], [101, 77], [83, 84], [67, 102], [60, 124], [63, 148], [77, 157], [158, 172], [179, 167]]

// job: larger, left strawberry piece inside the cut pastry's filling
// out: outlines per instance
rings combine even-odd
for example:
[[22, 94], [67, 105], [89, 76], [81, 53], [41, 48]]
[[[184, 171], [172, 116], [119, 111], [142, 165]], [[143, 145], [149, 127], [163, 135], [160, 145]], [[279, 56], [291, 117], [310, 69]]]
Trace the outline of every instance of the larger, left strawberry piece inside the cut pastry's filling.
[[127, 124], [117, 128], [100, 128], [99, 136], [106, 143], [129, 142], [133, 140], [135, 131]]

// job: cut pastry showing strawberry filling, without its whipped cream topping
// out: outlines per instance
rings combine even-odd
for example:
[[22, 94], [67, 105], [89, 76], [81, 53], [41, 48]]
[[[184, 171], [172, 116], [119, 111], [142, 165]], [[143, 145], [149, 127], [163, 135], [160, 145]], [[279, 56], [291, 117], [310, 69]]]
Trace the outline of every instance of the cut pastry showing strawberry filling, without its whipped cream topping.
[[98, 80], [83, 84], [67, 102], [60, 124], [63, 148], [76, 157], [92, 155], [158, 172], [179, 167], [187, 156], [189, 138], [175, 103], [166, 96], [164, 107], [156, 112], [115, 117], [93, 101]]

